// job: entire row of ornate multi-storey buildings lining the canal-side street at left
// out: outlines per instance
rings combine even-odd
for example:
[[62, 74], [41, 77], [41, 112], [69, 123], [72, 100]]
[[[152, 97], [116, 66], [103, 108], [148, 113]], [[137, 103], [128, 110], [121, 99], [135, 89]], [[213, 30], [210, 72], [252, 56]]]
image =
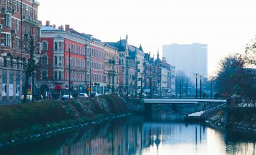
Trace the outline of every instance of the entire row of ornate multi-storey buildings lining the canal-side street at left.
[[128, 44], [128, 36], [102, 42], [70, 25], [42, 25], [36, 1], [3, 0], [0, 5], [0, 102], [19, 101], [24, 94], [22, 65], [31, 60], [24, 52], [28, 36], [35, 41], [35, 63], [41, 64], [29, 79], [28, 94], [58, 97], [68, 93], [69, 81], [72, 93], [175, 93], [175, 67], [159, 52], [154, 59], [141, 45]]

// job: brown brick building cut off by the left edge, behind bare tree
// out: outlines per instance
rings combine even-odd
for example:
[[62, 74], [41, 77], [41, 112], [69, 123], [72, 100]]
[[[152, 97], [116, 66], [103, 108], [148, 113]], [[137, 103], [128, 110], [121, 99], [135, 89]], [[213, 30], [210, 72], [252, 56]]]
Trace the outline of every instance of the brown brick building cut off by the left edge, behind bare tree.
[[26, 61], [29, 55], [22, 49], [21, 42], [31, 35], [38, 40], [41, 27], [38, 6], [37, 1], [0, 1], [0, 102], [19, 101], [22, 94], [24, 76], [18, 62]]

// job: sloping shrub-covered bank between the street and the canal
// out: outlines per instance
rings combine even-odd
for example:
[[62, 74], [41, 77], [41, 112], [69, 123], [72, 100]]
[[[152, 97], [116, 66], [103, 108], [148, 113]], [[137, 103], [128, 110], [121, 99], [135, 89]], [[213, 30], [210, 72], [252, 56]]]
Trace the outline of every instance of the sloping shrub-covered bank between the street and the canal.
[[0, 142], [127, 113], [125, 101], [112, 95], [0, 106]]

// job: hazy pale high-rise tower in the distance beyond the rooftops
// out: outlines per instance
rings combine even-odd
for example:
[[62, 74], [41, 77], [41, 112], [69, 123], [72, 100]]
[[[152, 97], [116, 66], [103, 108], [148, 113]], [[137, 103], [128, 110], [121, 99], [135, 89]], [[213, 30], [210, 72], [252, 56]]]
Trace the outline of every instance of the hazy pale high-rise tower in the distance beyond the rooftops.
[[207, 77], [206, 44], [170, 44], [163, 45], [163, 56], [174, 65], [177, 71], [183, 71], [194, 81], [194, 74]]

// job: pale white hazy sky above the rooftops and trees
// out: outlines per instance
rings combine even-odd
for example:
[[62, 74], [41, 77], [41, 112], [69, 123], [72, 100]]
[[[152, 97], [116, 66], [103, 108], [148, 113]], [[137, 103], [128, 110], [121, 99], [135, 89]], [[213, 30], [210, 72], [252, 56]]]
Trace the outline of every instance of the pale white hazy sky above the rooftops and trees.
[[209, 74], [227, 54], [243, 53], [256, 34], [255, 0], [38, 1], [43, 24], [70, 24], [104, 42], [127, 34], [129, 44], [155, 54], [163, 44], [208, 44]]

